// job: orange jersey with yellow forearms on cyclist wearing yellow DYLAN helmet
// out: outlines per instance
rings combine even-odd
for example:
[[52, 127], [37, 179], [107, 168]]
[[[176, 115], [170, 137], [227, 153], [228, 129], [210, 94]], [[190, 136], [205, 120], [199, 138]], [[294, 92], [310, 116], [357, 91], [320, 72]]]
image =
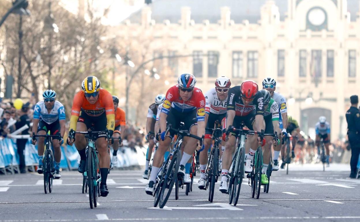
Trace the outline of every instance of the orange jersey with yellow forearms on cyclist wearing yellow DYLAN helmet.
[[95, 104], [90, 104], [85, 98], [84, 91], [80, 91], [74, 96], [71, 109], [71, 118], [69, 129], [76, 130], [76, 122], [79, 118], [80, 111], [84, 112], [90, 117], [99, 117], [103, 113], [106, 114], [107, 125], [106, 128], [114, 130], [115, 128], [115, 114], [114, 103], [112, 95], [105, 89], [99, 90], [99, 97]]

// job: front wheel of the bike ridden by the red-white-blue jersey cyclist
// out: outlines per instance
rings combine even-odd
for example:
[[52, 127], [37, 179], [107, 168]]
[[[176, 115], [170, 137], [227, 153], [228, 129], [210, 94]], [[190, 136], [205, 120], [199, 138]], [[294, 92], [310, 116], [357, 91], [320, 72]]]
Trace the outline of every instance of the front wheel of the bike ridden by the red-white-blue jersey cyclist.
[[[159, 201], [159, 207], [165, 207], [167, 200], [171, 194], [172, 186], [174, 186], [175, 180], [177, 180], [177, 171], [179, 170], [180, 166], [180, 151], [175, 150], [174, 154], [172, 155], [172, 160], [168, 166], [166, 171], [166, 175], [164, 178], [164, 184], [161, 189], [161, 197]], [[167, 190], [167, 191], [166, 191]], [[165, 193], [166, 192], [166, 193]]]

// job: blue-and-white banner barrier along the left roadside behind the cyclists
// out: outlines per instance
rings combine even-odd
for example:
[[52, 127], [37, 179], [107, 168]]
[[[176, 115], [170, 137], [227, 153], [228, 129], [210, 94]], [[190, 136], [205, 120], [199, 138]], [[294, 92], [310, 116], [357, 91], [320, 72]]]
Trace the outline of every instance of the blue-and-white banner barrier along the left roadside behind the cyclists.
[[[136, 146], [135, 149], [129, 147], [121, 147], [117, 152], [118, 164], [114, 167], [126, 168], [132, 166], [144, 166], [145, 165], [145, 153], [146, 148]], [[111, 148], [111, 158], [112, 158]], [[38, 165], [39, 160], [37, 156], [37, 145], [31, 144], [31, 139], [28, 140], [24, 151], [26, 166], [35, 170], [35, 166]], [[61, 146], [61, 161], [60, 167], [63, 170], [75, 170], [78, 167], [80, 161], [80, 155], [78, 154], [75, 146], [63, 145]], [[6, 174], [6, 172], [14, 173], [19, 172], [19, 157], [17, 153], [16, 140], [10, 138], [4, 138], [0, 140], [0, 172]]]

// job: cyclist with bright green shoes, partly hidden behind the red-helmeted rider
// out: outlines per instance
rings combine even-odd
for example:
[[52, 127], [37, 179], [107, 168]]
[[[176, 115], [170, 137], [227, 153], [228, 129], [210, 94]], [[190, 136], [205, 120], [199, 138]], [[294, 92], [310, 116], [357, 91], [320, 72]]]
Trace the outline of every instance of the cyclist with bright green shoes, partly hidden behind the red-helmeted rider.
[[[280, 135], [281, 130], [279, 127], [279, 107], [275, 100], [271, 98], [270, 92], [267, 90], [260, 90], [264, 94], [264, 120], [265, 120], [265, 133], [277, 132]], [[279, 145], [280, 140], [273, 140], [272, 136], [265, 136], [266, 143], [262, 154], [262, 169], [264, 174], [261, 175], [261, 184], [268, 184], [266, 171], [269, 167], [271, 157], [271, 146], [274, 144], [274, 149]]]

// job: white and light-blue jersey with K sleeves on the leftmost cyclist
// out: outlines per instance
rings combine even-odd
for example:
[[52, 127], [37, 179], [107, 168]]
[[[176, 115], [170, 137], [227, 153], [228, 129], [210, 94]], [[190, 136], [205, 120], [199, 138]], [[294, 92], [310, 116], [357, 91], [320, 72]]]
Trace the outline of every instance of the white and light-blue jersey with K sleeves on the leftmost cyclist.
[[55, 101], [54, 107], [48, 113], [44, 100], [36, 103], [34, 108], [34, 119], [42, 119], [45, 123], [51, 124], [57, 120], [65, 119], [65, 108], [59, 101]]

